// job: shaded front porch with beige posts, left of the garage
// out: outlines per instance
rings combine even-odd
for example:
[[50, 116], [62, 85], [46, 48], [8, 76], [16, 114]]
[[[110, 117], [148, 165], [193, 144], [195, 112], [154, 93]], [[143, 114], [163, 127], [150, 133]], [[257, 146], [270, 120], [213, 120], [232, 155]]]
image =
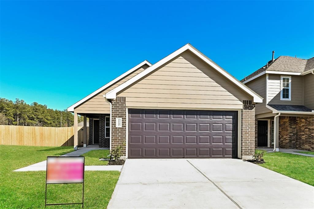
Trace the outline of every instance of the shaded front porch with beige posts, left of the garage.
[[[84, 117], [83, 120], [83, 142], [78, 142], [78, 115]], [[88, 118], [88, 121], [87, 121]], [[89, 123], [89, 131], [87, 131]], [[74, 112], [74, 149], [78, 149], [78, 144], [88, 149], [109, 149], [110, 148], [110, 114], [102, 113], [75, 113]], [[88, 138], [88, 140], [87, 140]], [[83, 148], [82, 147], [82, 148]], [[82, 149], [80, 148], [80, 149]]]

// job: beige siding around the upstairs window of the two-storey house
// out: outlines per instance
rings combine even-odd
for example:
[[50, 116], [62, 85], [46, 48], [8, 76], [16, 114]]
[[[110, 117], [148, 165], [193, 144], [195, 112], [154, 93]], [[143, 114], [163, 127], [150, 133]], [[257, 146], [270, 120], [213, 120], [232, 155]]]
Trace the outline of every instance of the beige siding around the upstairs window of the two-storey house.
[[303, 76], [291, 76], [291, 101], [280, 100], [280, 74], [269, 74], [268, 104], [303, 105]]

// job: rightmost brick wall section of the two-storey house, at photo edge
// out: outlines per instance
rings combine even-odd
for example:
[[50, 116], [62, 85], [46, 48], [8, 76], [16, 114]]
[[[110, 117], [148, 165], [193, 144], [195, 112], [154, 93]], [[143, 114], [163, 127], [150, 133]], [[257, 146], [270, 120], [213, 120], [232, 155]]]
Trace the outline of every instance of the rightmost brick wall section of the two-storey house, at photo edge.
[[314, 118], [298, 117], [296, 119], [297, 149], [314, 151]]

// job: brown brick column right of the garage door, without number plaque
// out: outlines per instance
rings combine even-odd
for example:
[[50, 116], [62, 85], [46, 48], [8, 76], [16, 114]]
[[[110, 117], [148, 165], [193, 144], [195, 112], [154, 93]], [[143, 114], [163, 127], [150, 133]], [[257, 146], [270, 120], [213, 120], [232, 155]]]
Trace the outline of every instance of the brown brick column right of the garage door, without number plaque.
[[251, 100], [243, 100], [241, 116], [241, 155], [250, 158], [255, 152], [255, 105]]

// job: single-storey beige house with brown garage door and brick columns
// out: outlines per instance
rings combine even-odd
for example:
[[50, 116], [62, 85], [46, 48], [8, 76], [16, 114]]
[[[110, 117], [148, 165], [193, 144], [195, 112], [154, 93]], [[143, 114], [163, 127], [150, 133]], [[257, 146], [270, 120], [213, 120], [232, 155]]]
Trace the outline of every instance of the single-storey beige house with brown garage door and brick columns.
[[68, 111], [75, 126], [78, 114], [85, 124], [89, 118], [89, 144], [112, 149], [125, 142], [127, 158], [247, 159], [262, 101], [187, 44], [154, 65], [138, 64]]

